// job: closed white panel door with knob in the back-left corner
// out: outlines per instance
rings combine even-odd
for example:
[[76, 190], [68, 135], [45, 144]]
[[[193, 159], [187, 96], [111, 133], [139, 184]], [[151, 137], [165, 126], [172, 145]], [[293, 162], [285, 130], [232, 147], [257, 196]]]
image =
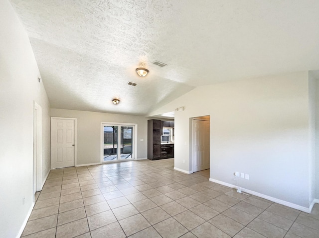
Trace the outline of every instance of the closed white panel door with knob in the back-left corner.
[[75, 119], [51, 118], [51, 169], [74, 166]]

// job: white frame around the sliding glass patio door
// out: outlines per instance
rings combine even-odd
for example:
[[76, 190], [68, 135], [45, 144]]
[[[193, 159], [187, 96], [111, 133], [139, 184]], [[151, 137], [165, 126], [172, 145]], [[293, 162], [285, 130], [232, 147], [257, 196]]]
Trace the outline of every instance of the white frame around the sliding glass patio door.
[[[134, 159], [130, 160], [137, 160], [137, 151], [138, 151], [138, 124], [137, 123], [119, 123], [119, 122], [101, 122], [101, 139], [100, 139], [100, 145], [101, 145], [101, 164], [103, 163], [114, 163], [114, 162], [120, 162], [120, 161], [130, 161], [130, 160], [116, 160], [116, 161], [104, 161], [104, 126], [133, 126], [133, 137], [134, 137], [134, 146], [133, 146], [133, 153], [132, 157]], [[120, 144], [121, 144], [121, 136], [120, 138]], [[121, 150], [120, 150], [121, 151]], [[117, 150], [117, 153], [119, 155], [119, 150]]]

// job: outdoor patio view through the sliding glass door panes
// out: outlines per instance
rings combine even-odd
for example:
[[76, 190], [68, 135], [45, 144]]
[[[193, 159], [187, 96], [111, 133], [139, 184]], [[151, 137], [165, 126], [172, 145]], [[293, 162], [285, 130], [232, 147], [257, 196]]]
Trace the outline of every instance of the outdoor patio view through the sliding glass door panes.
[[134, 126], [104, 125], [103, 131], [103, 161], [134, 159]]

